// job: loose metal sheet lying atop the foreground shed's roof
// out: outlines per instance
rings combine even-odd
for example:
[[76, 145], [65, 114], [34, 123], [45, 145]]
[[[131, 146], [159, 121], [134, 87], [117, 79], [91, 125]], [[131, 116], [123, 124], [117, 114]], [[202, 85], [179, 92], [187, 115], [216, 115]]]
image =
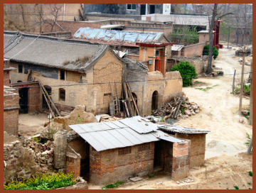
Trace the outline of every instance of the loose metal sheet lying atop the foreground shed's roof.
[[132, 128], [134, 131], [137, 131], [138, 133], [149, 133], [152, 131], [156, 131], [158, 129], [157, 124], [142, 121], [141, 116], [133, 116], [132, 118], [124, 118], [119, 121], [121, 123], [124, 123], [124, 125], [129, 126], [129, 128]]

